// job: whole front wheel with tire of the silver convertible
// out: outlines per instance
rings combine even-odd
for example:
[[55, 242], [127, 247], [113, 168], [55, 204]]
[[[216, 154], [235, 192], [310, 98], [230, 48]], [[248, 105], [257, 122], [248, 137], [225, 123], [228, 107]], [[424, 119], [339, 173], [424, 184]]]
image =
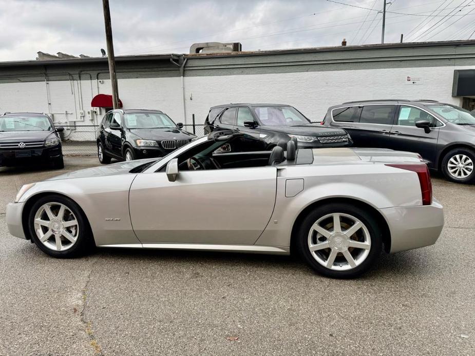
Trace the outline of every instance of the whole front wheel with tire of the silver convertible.
[[92, 234], [82, 210], [61, 195], [37, 200], [28, 214], [28, 227], [36, 246], [56, 258], [78, 256], [92, 246]]

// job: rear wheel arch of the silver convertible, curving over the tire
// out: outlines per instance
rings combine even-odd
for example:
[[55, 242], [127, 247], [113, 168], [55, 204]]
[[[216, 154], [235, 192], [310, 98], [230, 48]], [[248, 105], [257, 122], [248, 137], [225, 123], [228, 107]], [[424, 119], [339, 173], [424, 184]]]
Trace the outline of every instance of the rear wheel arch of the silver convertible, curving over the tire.
[[290, 251], [295, 251], [296, 247], [296, 242], [297, 242], [297, 232], [298, 228], [300, 227], [301, 222], [305, 217], [309, 214], [310, 211], [315, 209], [316, 207], [325, 205], [325, 204], [331, 204], [331, 203], [342, 203], [342, 204], [351, 204], [351, 206], [357, 206], [359, 208], [362, 208], [366, 211], [368, 211], [374, 218], [376, 219], [379, 227], [381, 227], [382, 233], [383, 233], [383, 246], [385, 252], [389, 253], [391, 250], [391, 231], [389, 229], [389, 225], [384, 218], [383, 214], [379, 212], [376, 208], [371, 206], [370, 204], [360, 201], [358, 199], [350, 198], [350, 197], [329, 197], [329, 198], [324, 198], [322, 200], [318, 200], [316, 202], [311, 203], [307, 207], [305, 207], [298, 216], [296, 217], [293, 225], [292, 225], [292, 232], [291, 232], [291, 238], [290, 238]]

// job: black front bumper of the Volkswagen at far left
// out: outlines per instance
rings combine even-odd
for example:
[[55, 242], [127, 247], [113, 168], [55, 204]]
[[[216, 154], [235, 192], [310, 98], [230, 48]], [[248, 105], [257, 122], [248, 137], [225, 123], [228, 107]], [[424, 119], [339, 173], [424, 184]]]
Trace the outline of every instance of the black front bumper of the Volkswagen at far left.
[[0, 150], [0, 166], [47, 162], [63, 155], [61, 145], [31, 149]]

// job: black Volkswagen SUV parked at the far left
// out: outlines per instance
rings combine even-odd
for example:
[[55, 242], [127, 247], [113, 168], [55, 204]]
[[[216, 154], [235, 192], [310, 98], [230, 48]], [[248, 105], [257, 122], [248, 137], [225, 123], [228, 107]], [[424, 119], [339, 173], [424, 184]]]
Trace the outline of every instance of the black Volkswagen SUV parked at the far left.
[[51, 117], [44, 113], [7, 112], [0, 116], [0, 166], [52, 163], [64, 168], [61, 139]]

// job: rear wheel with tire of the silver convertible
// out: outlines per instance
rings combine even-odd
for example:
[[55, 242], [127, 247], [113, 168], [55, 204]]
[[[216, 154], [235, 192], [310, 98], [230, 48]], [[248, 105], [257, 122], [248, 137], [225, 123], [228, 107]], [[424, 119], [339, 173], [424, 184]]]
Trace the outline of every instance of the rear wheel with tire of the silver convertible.
[[382, 250], [382, 234], [374, 216], [343, 203], [320, 206], [303, 220], [297, 246], [307, 264], [331, 278], [366, 272]]

